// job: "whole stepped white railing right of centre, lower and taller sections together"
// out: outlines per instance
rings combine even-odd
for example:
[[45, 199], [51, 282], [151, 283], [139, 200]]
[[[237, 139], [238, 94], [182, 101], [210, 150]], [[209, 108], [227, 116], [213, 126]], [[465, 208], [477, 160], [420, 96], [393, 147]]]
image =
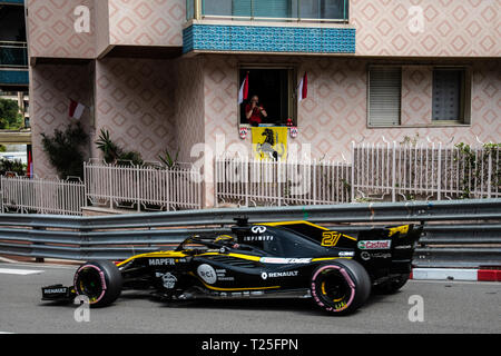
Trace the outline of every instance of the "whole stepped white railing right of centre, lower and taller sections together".
[[501, 197], [501, 159], [495, 147], [353, 144], [352, 157], [353, 164], [218, 158], [216, 204], [284, 206]]

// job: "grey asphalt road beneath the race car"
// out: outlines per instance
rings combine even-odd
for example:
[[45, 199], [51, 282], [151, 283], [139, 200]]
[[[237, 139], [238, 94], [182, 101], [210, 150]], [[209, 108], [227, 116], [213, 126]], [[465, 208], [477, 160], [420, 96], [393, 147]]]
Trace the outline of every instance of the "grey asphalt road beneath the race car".
[[[357, 313], [332, 317], [308, 299], [197, 300], [177, 306], [126, 291], [115, 305], [75, 320], [75, 305], [40, 300], [40, 287], [70, 285], [75, 267], [0, 264], [0, 333], [499, 333], [501, 284], [409, 281], [400, 293], [372, 296]], [[423, 300], [423, 322], [410, 322], [411, 296]], [[412, 300], [412, 298], [411, 298]]]

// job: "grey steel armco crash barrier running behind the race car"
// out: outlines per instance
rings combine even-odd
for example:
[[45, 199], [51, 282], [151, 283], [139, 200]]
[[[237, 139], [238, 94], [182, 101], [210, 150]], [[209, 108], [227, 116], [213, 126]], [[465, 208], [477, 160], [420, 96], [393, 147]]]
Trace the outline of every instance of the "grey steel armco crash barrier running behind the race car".
[[[171, 249], [194, 234], [250, 222], [308, 220], [356, 234], [376, 225], [425, 222], [418, 267], [501, 265], [501, 199], [207, 209], [106, 217], [0, 215], [0, 254], [61, 259], [125, 259]], [[347, 225], [351, 224], [351, 225]]]

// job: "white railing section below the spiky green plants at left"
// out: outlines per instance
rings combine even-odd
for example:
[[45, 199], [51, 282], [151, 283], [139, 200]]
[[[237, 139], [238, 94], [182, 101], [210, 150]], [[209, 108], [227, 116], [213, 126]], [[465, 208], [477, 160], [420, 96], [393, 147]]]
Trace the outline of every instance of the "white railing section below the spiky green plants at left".
[[191, 168], [85, 164], [86, 196], [95, 206], [145, 210], [202, 208], [202, 178]]

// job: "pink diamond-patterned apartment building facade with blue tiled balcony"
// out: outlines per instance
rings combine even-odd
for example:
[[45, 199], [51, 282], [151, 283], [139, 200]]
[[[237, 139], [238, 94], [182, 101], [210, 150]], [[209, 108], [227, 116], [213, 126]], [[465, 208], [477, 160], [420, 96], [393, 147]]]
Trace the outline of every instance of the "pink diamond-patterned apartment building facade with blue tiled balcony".
[[[239, 89], [313, 158], [352, 141], [501, 141], [497, 0], [27, 0], [35, 172], [41, 134], [80, 121], [145, 160], [252, 151]], [[307, 98], [297, 86], [307, 75]], [[289, 121], [289, 122], [291, 122]], [[194, 149], [204, 144], [202, 149]], [[200, 147], [200, 146], [198, 146]], [[209, 155], [210, 154], [210, 155]], [[212, 206], [210, 164], [205, 205]]]

